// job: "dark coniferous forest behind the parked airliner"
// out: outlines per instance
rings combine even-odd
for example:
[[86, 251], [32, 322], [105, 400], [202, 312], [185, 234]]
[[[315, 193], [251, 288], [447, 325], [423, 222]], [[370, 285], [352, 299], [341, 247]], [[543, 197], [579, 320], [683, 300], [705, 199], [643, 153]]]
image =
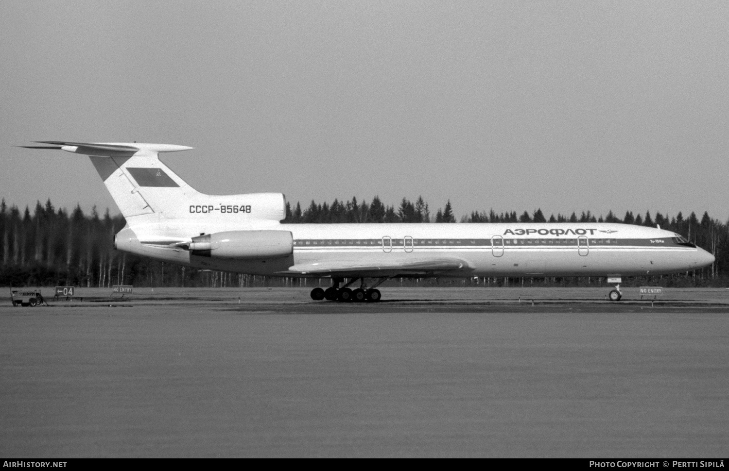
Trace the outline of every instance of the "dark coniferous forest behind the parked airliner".
[[[317, 204], [312, 201], [302, 209], [286, 203], [286, 223], [456, 223], [456, 217], [447, 202], [432, 214], [422, 197], [416, 202], [403, 198], [397, 207], [384, 205], [378, 197], [371, 202], [358, 202], [356, 197], [340, 202], [335, 199]], [[642, 277], [623, 280], [623, 285], [656, 283], [663, 286], [725, 287], [729, 285], [729, 228], [728, 223], [712, 219], [708, 213], [698, 218], [695, 213], [662, 215], [650, 212], [644, 215], [628, 211], [623, 218], [610, 211], [596, 217], [590, 211], [580, 215], [550, 215], [541, 209], [496, 213], [494, 210], [473, 211], [460, 219], [461, 223], [497, 222], [612, 222], [660, 226], [686, 237], [701, 248], [713, 253], [717, 261], [694, 272], [662, 277]], [[165, 264], [147, 258], [114, 250], [113, 241], [125, 221], [121, 215], [111, 216], [107, 209], [103, 216], [95, 207], [85, 214], [79, 206], [71, 210], [55, 209], [50, 200], [40, 202], [34, 210], [26, 207], [8, 207], [0, 202], [0, 234], [2, 240], [0, 286], [55, 286], [111, 287], [112, 285], [180, 286], [180, 287], [244, 287], [244, 286], [299, 286], [303, 280], [275, 277], [253, 277], [227, 272], [209, 272], [190, 267]], [[453, 280], [408, 280], [413, 285], [448, 285]], [[592, 285], [602, 282], [589, 278], [510, 278], [490, 280], [456, 280], [459, 285]], [[312, 285], [316, 281], [308, 280]], [[326, 284], [326, 282], [324, 282]]]

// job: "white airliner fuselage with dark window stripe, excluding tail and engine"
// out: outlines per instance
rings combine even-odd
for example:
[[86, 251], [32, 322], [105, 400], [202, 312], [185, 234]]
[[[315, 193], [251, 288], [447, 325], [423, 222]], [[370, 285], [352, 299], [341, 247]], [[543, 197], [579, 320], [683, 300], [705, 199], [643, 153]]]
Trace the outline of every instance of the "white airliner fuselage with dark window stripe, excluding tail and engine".
[[[636, 276], [686, 272], [714, 257], [701, 248], [679, 242], [677, 234], [652, 227], [613, 223], [356, 223], [281, 224], [262, 221], [245, 228], [214, 223], [201, 228], [197, 220], [160, 221], [145, 233], [118, 243], [120, 250], [202, 269], [248, 274], [287, 275], [290, 266], [350, 261], [390, 266], [418, 260], [458, 258], [458, 272], [436, 270], [418, 276], [573, 277]], [[193, 227], [188, 226], [191, 223]], [[161, 231], [160, 227], [165, 230]], [[237, 260], [191, 256], [165, 247], [190, 234], [236, 229], [291, 231], [294, 249], [286, 258]], [[128, 230], [128, 229], [125, 229]], [[120, 235], [122, 235], [120, 233]], [[123, 238], [123, 237], [122, 237]], [[390, 272], [396, 276], [397, 270]], [[327, 274], [290, 274], [326, 277]], [[346, 276], [346, 275], [345, 275]], [[356, 276], [352, 272], [351, 276]]]

